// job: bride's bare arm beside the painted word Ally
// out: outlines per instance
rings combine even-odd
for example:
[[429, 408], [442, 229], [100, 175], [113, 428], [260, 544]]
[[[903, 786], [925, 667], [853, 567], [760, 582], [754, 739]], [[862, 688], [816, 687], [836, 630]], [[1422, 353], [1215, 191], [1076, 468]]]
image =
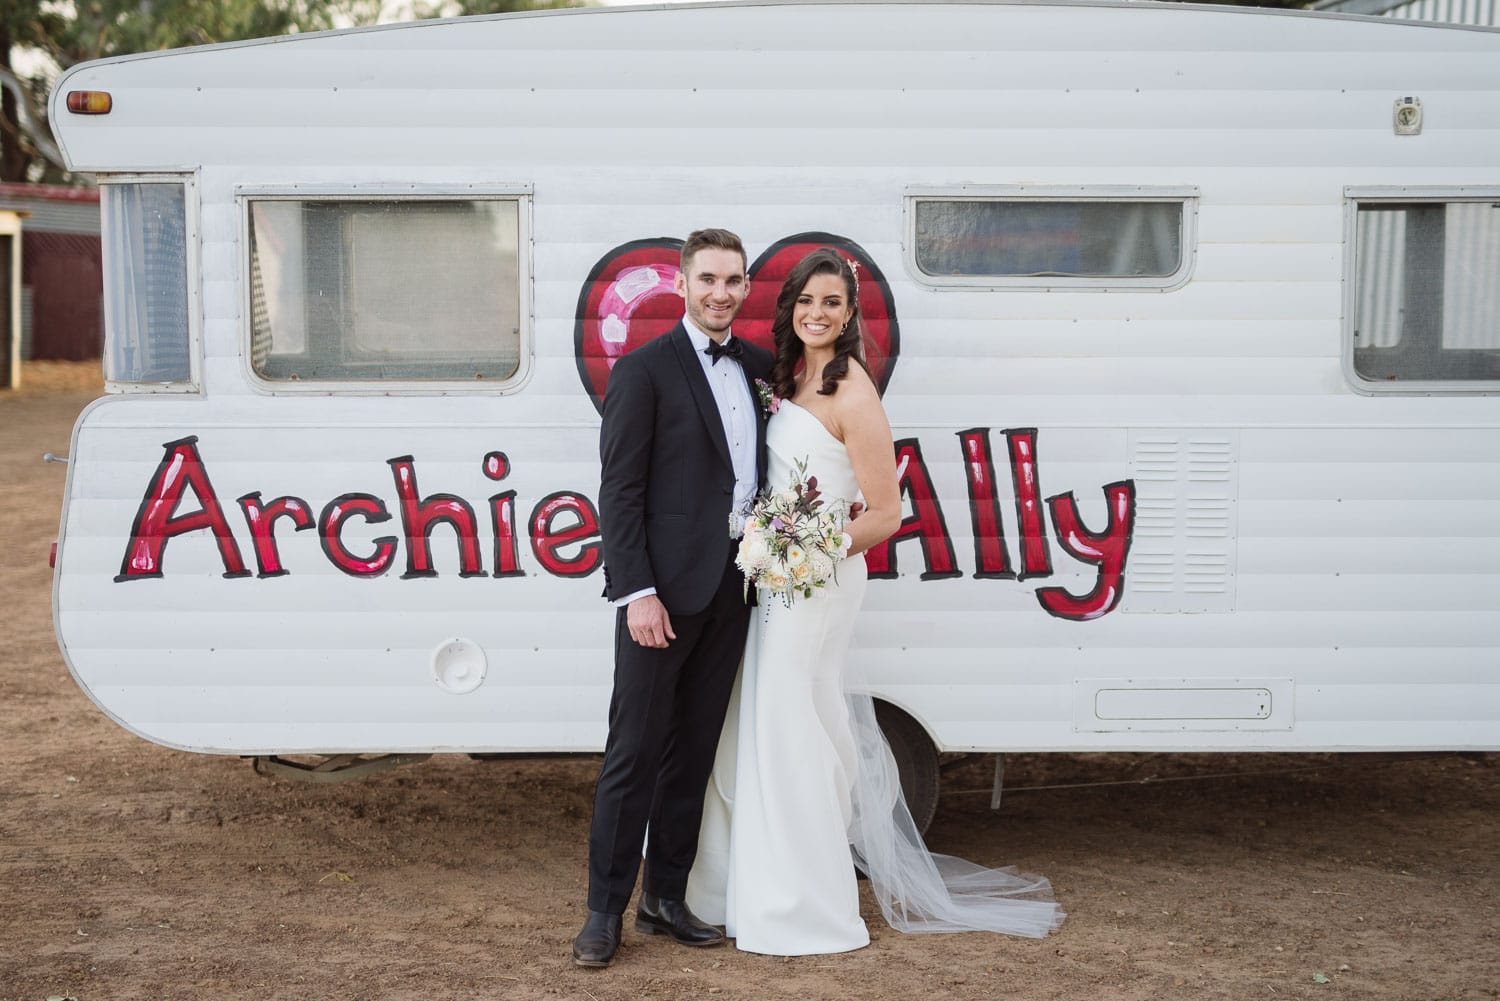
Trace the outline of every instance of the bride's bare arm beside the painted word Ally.
[[874, 383], [858, 365], [850, 365], [849, 375], [838, 383], [834, 420], [844, 450], [849, 452], [855, 479], [860, 480], [860, 492], [864, 494], [864, 510], [844, 525], [854, 540], [849, 546], [849, 555], [854, 555], [880, 545], [902, 527], [902, 491], [896, 482], [891, 422], [880, 407]]

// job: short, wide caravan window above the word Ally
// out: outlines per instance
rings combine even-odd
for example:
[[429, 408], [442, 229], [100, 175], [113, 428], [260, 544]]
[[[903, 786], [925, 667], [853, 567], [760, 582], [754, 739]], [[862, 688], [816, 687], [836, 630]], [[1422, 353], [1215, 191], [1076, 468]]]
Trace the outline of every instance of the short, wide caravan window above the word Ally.
[[1192, 258], [1190, 203], [1134, 188], [912, 195], [909, 260], [939, 287], [1176, 288]]

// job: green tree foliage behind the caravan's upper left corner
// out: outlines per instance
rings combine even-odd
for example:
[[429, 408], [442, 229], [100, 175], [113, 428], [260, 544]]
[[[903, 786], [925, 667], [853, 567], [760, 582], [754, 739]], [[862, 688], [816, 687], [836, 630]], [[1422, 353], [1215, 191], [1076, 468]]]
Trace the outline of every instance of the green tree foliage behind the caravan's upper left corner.
[[[210, 45], [382, 20], [573, 6], [572, 0], [0, 0], [0, 182], [63, 180], [51, 152], [51, 74], [16, 74], [18, 50], [57, 69], [106, 56]], [[20, 62], [20, 60], [16, 60]], [[34, 60], [33, 60], [34, 62]]]

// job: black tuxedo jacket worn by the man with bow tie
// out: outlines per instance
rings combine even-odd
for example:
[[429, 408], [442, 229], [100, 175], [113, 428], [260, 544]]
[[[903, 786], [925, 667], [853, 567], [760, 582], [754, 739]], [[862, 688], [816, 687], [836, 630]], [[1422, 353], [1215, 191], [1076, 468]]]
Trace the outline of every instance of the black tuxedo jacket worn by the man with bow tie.
[[[771, 356], [744, 344], [756, 411], [756, 483], [765, 482], [766, 414], [754, 392]], [[615, 363], [598, 434], [604, 597], [654, 587], [676, 615], [708, 606], [729, 555], [735, 470], [693, 342], [680, 323]]]

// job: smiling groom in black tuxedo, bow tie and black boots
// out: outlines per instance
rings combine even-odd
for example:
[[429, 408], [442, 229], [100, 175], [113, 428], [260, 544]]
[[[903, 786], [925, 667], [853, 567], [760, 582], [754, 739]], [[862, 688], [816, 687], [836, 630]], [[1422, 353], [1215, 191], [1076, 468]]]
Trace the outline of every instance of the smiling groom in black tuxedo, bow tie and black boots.
[[682, 897], [750, 621], [730, 513], [748, 509], [765, 477], [752, 380], [770, 377], [771, 356], [729, 332], [750, 291], [734, 233], [688, 236], [675, 288], [682, 321], [620, 359], [604, 393], [598, 513], [604, 596], [618, 609], [615, 690], [579, 966], [614, 959], [644, 840], [636, 929], [684, 945], [724, 939]]

